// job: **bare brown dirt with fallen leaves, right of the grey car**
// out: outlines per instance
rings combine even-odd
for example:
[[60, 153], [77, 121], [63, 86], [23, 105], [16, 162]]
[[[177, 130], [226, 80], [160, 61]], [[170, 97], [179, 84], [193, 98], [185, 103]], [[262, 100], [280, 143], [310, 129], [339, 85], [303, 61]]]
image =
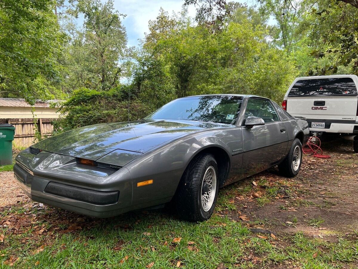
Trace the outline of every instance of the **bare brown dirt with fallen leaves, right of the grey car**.
[[[329, 242], [336, 241], [337, 236], [355, 235], [358, 232], [358, 155], [354, 154], [352, 143], [344, 140], [323, 143], [322, 148], [331, 158], [304, 156], [301, 171], [293, 179], [282, 178], [273, 168], [236, 183], [269, 179], [268, 185], [273, 182], [279, 186], [279, 195], [265, 206], [255, 203], [256, 194], [265, 186], [254, 187], [253, 193], [245, 197], [235, 197], [238, 212], [264, 223], [255, 228], [274, 234], [303, 231], [307, 236]], [[235, 211], [220, 213], [233, 219], [240, 216]], [[321, 223], [315, 225], [317, 221]]]

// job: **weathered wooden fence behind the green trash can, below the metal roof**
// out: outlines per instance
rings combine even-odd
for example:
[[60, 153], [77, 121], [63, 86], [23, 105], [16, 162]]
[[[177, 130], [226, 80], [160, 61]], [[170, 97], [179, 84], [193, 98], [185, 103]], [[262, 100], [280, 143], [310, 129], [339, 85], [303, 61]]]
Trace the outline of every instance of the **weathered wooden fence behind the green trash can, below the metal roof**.
[[[41, 136], [52, 135], [52, 122], [55, 119], [35, 119]], [[1, 123], [10, 123], [15, 126], [14, 144], [19, 147], [29, 147], [34, 143], [35, 124], [34, 119], [0, 119]]]

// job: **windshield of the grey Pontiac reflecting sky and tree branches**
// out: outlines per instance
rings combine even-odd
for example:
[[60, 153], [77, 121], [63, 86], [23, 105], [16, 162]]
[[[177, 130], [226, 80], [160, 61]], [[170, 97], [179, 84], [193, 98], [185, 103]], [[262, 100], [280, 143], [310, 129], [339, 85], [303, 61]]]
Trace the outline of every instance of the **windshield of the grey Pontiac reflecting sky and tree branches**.
[[159, 108], [145, 119], [185, 119], [235, 124], [242, 99], [242, 96], [230, 95], [179, 98]]

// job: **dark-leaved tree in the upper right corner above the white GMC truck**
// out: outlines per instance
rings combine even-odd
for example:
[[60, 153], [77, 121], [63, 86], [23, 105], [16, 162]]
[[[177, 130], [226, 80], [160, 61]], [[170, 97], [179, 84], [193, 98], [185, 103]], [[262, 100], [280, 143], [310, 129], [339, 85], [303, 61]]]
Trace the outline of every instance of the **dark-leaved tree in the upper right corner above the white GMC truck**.
[[335, 1], [315, 1], [306, 14], [310, 54], [320, 59], [310, 75], [358, 74], [358, 9]]

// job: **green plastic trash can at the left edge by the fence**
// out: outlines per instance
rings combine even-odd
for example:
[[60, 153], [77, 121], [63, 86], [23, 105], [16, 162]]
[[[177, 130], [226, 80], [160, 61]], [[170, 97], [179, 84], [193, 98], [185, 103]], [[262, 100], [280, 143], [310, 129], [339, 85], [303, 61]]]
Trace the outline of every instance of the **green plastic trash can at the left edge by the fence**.
[[13, 164], [15, 126], [0, 124], [0, 165]]

